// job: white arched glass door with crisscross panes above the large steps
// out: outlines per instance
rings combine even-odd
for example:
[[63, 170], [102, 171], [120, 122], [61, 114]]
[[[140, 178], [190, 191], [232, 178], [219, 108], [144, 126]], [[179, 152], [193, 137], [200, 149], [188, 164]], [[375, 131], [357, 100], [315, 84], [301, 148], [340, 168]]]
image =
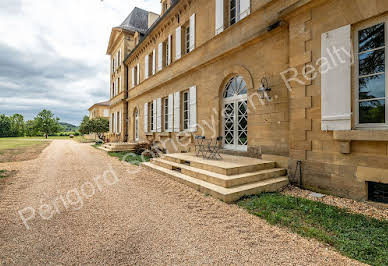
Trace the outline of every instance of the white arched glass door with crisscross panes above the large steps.
[[224, 148], [246, 151], [248, 147], [247, 85], [241, 76], [232, 78], [224, 91]]

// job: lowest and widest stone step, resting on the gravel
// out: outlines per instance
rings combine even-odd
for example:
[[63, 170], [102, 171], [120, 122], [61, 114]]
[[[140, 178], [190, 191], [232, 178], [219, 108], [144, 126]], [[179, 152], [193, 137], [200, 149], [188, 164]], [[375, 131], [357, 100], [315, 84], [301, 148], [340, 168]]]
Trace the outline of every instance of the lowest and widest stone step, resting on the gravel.
[[230, 203], [240, 199], [243, 196], [254, 195], [261, 192], [275, 192], [288, 184], [288, 177], [270, 178], [250, 184], [235, 186], [232, 188], [225, 188], [218, 186], [177, 171], [169, 170], [152, 162], [142, 163], [142, 167], [154, 170], [164, 174], [180, 183], [186, 184], [200, 192], [209, 194], [224, 202]]

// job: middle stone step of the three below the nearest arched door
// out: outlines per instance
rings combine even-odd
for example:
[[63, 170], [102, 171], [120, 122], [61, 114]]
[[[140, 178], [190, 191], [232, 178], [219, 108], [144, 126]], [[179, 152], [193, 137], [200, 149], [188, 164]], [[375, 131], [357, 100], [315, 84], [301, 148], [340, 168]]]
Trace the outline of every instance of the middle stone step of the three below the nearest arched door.
[[180, 169], [180, 172], [182, 174], [198, 178], [200, 180], [225, 188], [258, 182], [274, 177], [284, 176], [287, 174], [287, 170], [284, 168], [272, 168], [238, 175], [222, 175], [199, 168], [194, 168], [189, 165], [164, 160], [161, 158], [152, 159], [152, 163], [169, 170]]

